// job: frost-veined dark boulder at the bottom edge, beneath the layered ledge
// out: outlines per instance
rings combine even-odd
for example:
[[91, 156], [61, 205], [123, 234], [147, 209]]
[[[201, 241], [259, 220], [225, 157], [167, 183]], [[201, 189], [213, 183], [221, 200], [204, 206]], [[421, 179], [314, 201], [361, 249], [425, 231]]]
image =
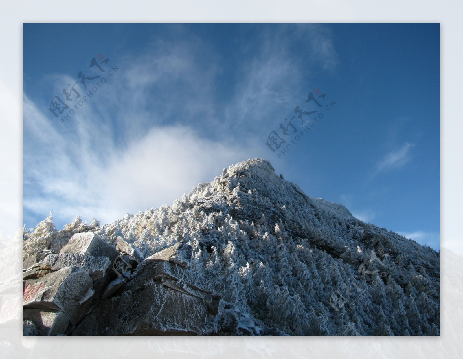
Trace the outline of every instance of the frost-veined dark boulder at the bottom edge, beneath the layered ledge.
[[152, 282], [136, 295], [125, 291], [101, 301], [72, 335], [208, 334], [214, 329], [208, 315], [201, 298]]

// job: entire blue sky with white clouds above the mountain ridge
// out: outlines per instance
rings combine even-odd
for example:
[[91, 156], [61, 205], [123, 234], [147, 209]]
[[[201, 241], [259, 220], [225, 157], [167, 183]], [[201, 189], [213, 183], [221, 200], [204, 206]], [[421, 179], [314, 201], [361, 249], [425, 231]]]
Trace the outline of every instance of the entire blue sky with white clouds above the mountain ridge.
[[[263, 157], [307, 195], [438, 249], [439, 36], [439, 24], [25, 24], [25, 225], [50, 211], [58, 229], [112, 222]], [[107, 81], [84, 89], [79, 71]], [[87, 101], [56, 118], [51, 100], [71, 103], [75, 82], [72, 106]], [[318, 90], [321, 108], [306, 102]], [[323, 111], [292, 120], [300, 140], [279, 126], [296, 106]], [[272, 131], [287, 141], [275, 152]]]

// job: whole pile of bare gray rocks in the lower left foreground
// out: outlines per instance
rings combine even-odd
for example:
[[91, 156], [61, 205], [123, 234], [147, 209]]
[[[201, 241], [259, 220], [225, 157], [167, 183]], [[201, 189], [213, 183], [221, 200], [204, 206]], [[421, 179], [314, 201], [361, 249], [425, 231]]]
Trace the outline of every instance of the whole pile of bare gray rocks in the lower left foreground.
[[[217, 332], [221, 321], [225, 329], [238, 328], [238, 320], [227, 319], [228, 309], [219, 315], [224, 285], [189, 271], [191, 246], [177, 243], [143, 259], [122, 241], [114, 258], [115, 248], [96, 234], [79, 233], [61, 253], [27, 268], [24, 334], [204, 335]], [[111, 255], [113, 263], [98, 254]]]

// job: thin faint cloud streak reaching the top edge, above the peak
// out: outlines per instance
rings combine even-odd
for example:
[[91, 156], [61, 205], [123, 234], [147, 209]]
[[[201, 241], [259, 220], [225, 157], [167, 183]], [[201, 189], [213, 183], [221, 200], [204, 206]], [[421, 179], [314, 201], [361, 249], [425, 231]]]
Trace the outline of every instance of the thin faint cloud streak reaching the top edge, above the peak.
[[[334, 70], [338, 64], [330, 33], [322, 25], [282, 25], [267, 30], [262, 41], [254, 44], [258, 47], [255, 57], [242, 64], [243, 80], [226, 106], [229, 123], [246, 123], [256, 132], [270, 132], [269, 125], [294, 115], [295, 105], [304, 107], [307, 91], [313, 89], [307, 76], [315, 68]], [[301, 44], [311, 54], [304, 61], [290, 56], [290, 49]]]

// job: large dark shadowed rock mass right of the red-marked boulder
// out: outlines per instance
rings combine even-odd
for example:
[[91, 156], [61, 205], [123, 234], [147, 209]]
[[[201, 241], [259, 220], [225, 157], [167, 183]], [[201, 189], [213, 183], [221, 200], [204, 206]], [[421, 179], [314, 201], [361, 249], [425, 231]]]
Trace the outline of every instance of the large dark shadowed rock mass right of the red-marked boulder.
[[[123, 290], [101, 301], [74, 335], [209, 334], [216, 328], [221, 283], [167, 261], [146, 260]], [[111, 316], [102, 315], [109, 310]]]

